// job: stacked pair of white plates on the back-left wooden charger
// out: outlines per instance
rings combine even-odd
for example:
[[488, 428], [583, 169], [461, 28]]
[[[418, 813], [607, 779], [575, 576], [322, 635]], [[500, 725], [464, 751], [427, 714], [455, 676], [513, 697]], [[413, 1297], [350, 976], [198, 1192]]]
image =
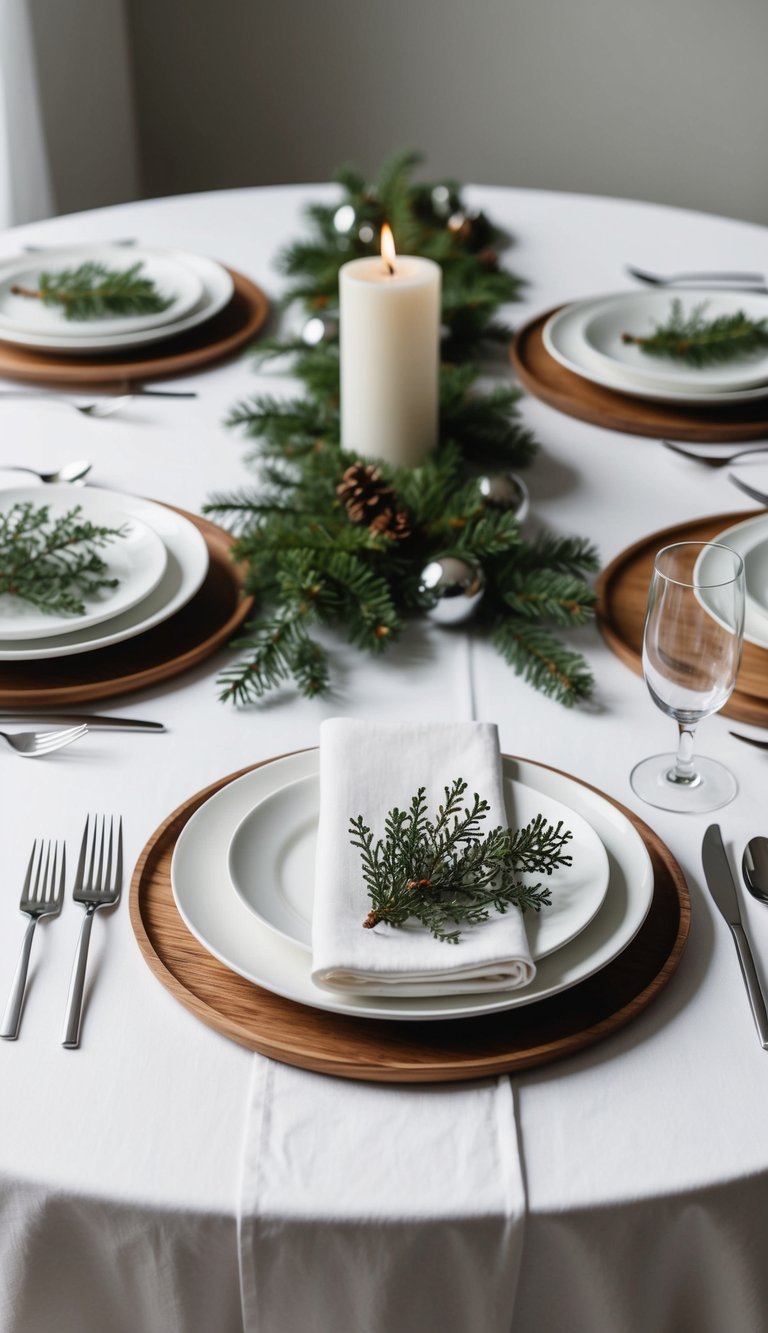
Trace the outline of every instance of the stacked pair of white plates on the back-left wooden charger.
[[[69, 320], [64, 311], [19, 295], [37, 291], [41, 273], [57, 273], [84, 263], [125, 271], [140, 264], [169, 305], [156, 315], [113, 315]], [[139, 245], [80, 245], [49, 249], [0, 265], [0, 341], [63, 356], [107, 356], [177, 337], [213, 319], [233, 293], [232, 277], [221, 264], [185, 251]]]

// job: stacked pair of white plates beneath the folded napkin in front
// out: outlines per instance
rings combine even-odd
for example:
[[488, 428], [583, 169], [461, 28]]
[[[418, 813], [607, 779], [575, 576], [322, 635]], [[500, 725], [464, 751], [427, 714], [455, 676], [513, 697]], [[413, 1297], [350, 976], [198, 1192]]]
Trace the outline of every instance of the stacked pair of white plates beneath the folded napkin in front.
[[232, 972], [329, 1013], [424, 1021], [532, 1004], [577, 985], [627, 948], [651, 906], [653, 872], [632, 824], [573, 778], [505, 758], [504, 790], [512, 826], [541, 812], [573, 832], [573, 868], [548, 881], [552, 906], [527, 918], [537, 970], [525, 989], [397, 998], [315, 986], [317, 750], [264, 764], [196, 810], [173, 853], [176, 906], [200, 944]]

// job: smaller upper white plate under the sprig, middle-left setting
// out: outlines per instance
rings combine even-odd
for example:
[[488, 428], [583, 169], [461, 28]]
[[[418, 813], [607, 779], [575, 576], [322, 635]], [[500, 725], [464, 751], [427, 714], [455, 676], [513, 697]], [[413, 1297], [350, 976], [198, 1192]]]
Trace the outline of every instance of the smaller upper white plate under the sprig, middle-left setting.
[[13, 505], [44, 504], [51, 519], [60, 519], [75, 508], [81, 517], [100, 528], [123, 528], [123, 536], [113, 537], [99, 555], [107, 565], [105, 579], [117, 579], [116, 588], [101, 588], [91, 597], [83, 597], [87, 608], [83, 616], [47, 616], [36, 607], [11, 593], [0, 596], [0, 643], [17, 639], [51, 639], [100, 625], [113, 616], [129, 611], [149, 596], [160, 583], [168, 556], [161, 537], [136, 519], [119, 508], [113, 499], [105, 499], [100, 491], [57, 488], [51, 496], [49, 487], [23, 487], [15, 491], [0, 491], [0, 513], [7, 515]]

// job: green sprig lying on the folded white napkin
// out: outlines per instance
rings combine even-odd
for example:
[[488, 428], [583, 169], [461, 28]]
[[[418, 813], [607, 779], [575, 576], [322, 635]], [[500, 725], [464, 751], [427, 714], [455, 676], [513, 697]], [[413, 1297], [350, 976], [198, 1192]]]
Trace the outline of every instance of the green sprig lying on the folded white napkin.
[[551, 890], [520, 876], [549, 876], [557, 866], [569, 866], [564, 848], [572, 834], [543, 814], [515, 832], [497, 825], [485, 833], [480, 825], [491, 806], [477, 793], [464, 805], [465, 792], [467, 782], [455, 778], [432, 820], [420, 786], [407, 810], [389, 810], [383, 838], [361, 814], [351, 818], [351, 844], [360, 852], [372, 904], [363, 922], [367, 929], [416, 920], [436, 940], [457, 944], [460, 930], [449, 925], [476, 925], [509, 906], [539, 912], [549, 905]]

